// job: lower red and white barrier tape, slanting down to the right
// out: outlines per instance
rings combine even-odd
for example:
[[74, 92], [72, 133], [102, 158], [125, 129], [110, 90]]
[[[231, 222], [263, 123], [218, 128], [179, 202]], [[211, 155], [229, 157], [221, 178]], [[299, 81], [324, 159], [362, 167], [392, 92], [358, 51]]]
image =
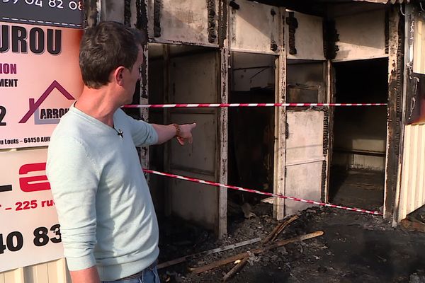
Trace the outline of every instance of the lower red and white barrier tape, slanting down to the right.
[[212, 186], [215, 186], [215, 187], [227, 187], [227, 188], [232, 189], [232, 190], [241, 190], [243, 192], [254, 192], [254, 194], [268, 195], [269, 197], [280, 197], [280, 198], [285, 199], [285, 200], [294, 200], [295, 202], [307, 202], [309, 204], [317, 204], [317, 205], [321, 205], [323, 207], [333, 207], [333, 208], [337, 208], [337, 209], [350, 210], [352, 212], [362, 212], [362, 213], [367, 213], [367, 214], [383, 215], [380, 212], [370, 211], [370, 210], [366, 210], [366, 209], [353, 208], [353, 207], [342, 207], [341, 205], [328, 204], [328, 203], [325, 203], [325, 202], [316, 202], [314, 200], [304, 200], [304, 199], [300, 199], [298, 197], [287, 197], [285, 195], [276, 195], [276, 194], [273, 194], [271, 192], [261, 192], [259, 190], [251, 190], [251, 189], [246, 189], [244, 187], [237, 187], [237, 186], [233, 186], [233, 185], [224, 185], [224, 184], [220, 184], [220, 183], [215, 183], [215, 182], [210, 182], [210, 181], [200, 180], [200, 179], [195, 179], [195, 178], [190, 178], [190, 177], [184, 177], [184, 176], [181, 176], [181, 175], [174, 175], [174, 174], [170, 174], [170, 173], [163, 173], [163, 172], [154, 171], [154, 170], [143, 169], [143, 171], [146, 172], [146, 173], [150, 173], [150, 174], [162, 175], [162, 176], [166, 176], [166, 177], [170, 177], [170, 178], [176, 178], [176, 179], [180, 179], [180, 180], [186, 180], [186, 181], [191, 181], [191, 182], [205, 184], [205, 185], [212, 185]]

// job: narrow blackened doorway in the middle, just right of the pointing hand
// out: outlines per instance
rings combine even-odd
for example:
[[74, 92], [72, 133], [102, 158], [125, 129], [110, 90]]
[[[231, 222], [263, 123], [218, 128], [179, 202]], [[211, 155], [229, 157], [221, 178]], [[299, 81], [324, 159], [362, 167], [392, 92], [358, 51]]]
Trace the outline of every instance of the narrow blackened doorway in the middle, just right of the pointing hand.
[[[232, 52], [229, 103], [274, 103], [275, 64], [273, 55]], [[273, 107], [229, 108], [229, 184], [273, 192], [274, 113]], [[228, 222], [255, 214], [251, 209], [266, 198], [234, 190], [227, 195]], [[273, 205], [264, 205], [271, 213]]]

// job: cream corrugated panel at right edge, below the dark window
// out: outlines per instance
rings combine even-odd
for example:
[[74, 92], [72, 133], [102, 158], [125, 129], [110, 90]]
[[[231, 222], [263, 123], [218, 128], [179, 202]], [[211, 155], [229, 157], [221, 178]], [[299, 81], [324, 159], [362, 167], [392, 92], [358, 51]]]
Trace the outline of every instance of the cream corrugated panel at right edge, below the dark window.
[[425, 204], [425, 125], [407, 125], [404, 132], [399, 221]]

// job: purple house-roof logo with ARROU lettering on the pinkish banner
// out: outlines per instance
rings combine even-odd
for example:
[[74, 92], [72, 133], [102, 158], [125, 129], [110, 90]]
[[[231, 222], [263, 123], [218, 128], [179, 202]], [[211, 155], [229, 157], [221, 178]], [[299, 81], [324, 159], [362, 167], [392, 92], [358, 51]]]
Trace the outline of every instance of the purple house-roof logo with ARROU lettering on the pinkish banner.
[[75, 98], [57, 81], [53, 81], [52, 84], [46, 89], [44, 93], [38, 98], [37, 102], [34, 102], [34, 98], [30, 98], [30, 110], [24, 115], [19, 123], [26, 123], [30, 119], [31, 115], [34, 115], [35, 125], [42, 124], [57, 124], [69, 108], [40, 108], [47, 96], [52, 93], [54, 89], [57, 89], [62, 96], [68, 100], [75, 100]]

